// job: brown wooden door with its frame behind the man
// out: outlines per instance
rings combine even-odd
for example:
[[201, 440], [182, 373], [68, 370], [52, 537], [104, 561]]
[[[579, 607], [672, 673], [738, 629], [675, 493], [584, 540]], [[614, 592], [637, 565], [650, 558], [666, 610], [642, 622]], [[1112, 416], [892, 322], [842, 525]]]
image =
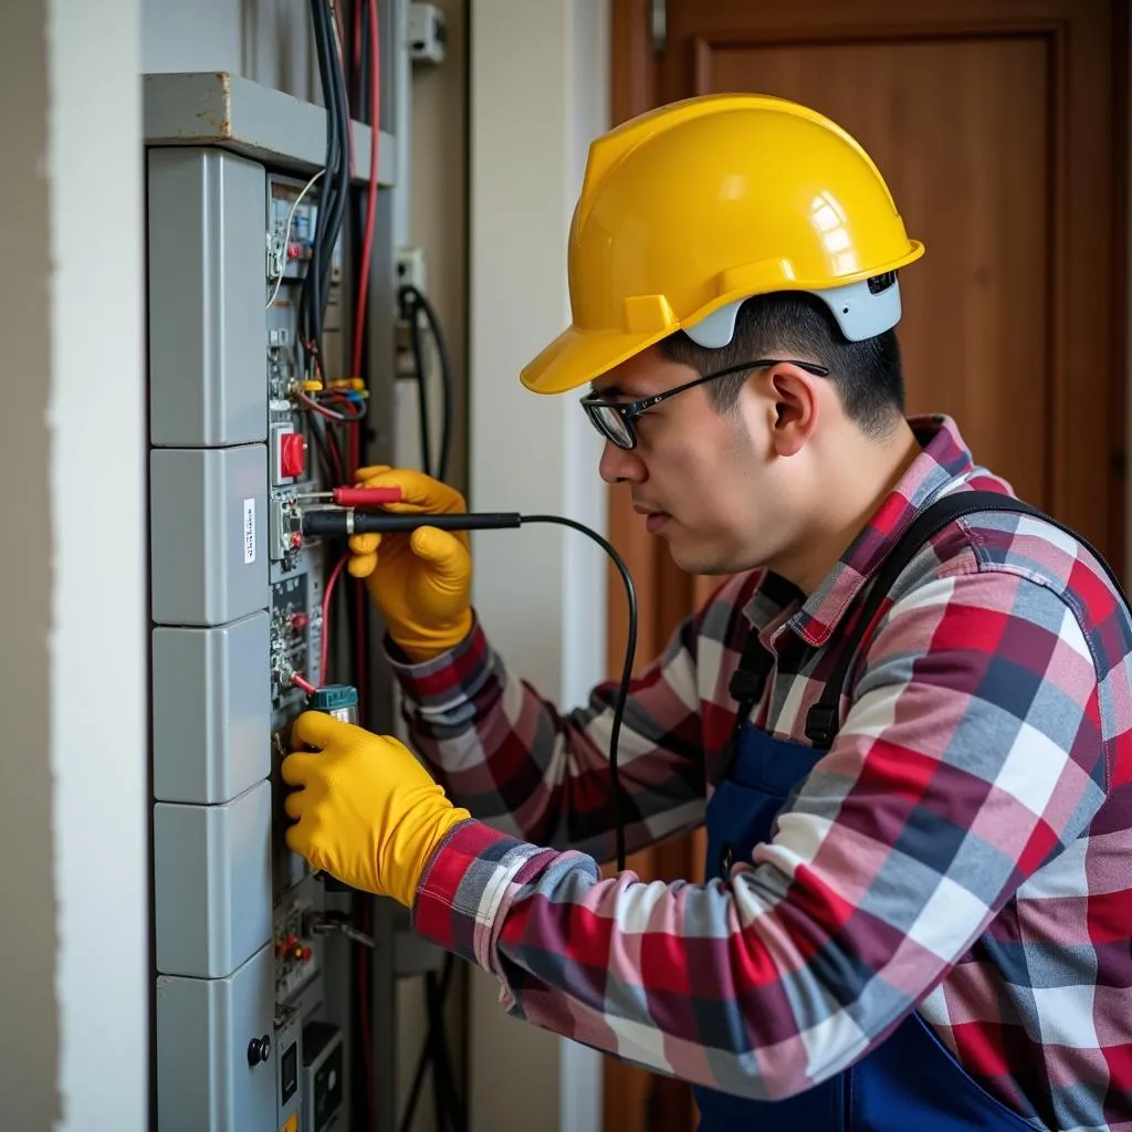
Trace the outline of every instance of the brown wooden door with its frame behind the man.
[[[908, 411], [955, 417], [977, 461], [1122, 569], [1125, 0], [612, 3], [616, 120], [755, 91], [857, 137], [927, 247], [901, 275]], [[617, 488], [610, 528], [641, 588], [645, 661], [719, 580], [678, 571]], [[623, 629], [611, 618], [611, 670]], [[695, 878], [701, 848], [634, 866]], [[678, 1082], [615, 1063], [606, 1081], [608, 1132], [695, 1126]]]

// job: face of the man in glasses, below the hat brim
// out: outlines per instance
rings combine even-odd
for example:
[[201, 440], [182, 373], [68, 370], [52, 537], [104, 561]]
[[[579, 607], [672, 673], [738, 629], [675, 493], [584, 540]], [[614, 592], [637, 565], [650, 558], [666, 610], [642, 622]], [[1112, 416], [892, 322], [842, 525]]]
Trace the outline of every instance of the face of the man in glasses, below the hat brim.
[[[697, 376], [653, 346], [593, 389], [603, 398], [635, 401]], [[721, 412], [706, 386], [694, 386], [636, 418], [635, 448], [606, 443], [601, 478], [628, 483], [634, 509], [685, 571], [726, 574], [766, 565], [786, 533], [780, 520], [790, 484], [773, 460], [764, 400], [745, 388], [734, 410]]]

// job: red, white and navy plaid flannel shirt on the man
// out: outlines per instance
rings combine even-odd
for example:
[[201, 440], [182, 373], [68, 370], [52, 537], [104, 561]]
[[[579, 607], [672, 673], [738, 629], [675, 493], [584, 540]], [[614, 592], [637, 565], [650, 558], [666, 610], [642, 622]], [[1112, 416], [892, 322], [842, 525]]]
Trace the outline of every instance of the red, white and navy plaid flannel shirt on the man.
[[[938, 494], [1009, 492], [946, 418], [807, 599], [731, 578], [635, 680], [619, 767], [629, 851], [701, 824], [745, 636], [775, 655], [755, 722], [806, 743], [847, 607]], [[497, 976], [505, 1007], [694, 1083], [780, 1098], [912, 1010], [1036, 1129], [1132, 1130], [1132, 631], [1087, 550], [1017, 514], [937, 535], [886, 598], [833, 747], [726, 881], [603, 880], [616, 685], [568, 714], [477, 623], [391, 658], [462, 823], [417, 929]], [[484, 823], [490, 823], [484, 824]]]

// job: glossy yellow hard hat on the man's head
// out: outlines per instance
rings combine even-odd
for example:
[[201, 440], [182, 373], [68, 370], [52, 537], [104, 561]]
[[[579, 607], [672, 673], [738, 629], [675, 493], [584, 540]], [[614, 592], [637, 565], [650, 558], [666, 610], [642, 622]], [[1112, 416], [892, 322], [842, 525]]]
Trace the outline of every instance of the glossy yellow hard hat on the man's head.
[[573, 323], [526, 367], [563, 393], [675, 331], [722, 346], [744, 299], [811, 291], [846, 337], [894, 326], [893, 274], [924, 254], [841, 127], [762, 94], [661, 106], [590, 146], [568, 245]]

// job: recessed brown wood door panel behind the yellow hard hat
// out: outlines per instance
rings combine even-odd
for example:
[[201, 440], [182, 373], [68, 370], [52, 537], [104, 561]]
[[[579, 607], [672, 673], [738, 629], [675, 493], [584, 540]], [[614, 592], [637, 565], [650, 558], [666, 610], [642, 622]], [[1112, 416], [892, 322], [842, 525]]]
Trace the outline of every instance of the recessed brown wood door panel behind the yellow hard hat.
[[1041, 507], [1054, 501], [1050, 57], [1032, 35], [718, 50], [701, 40], [696, 51], [696, 93], [794, 98], [873, 156], [927, 247], [900, 276], [908, 411], [955, 417], [977, 458]]

